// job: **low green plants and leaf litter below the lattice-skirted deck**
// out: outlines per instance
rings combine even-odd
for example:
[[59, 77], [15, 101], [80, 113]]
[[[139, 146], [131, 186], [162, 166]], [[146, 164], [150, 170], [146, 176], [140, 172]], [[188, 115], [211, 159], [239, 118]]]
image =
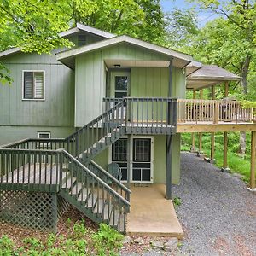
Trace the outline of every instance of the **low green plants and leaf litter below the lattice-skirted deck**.
[[77, 255], [118, 255], [123, 236], [107, 224], [100, 224], [97, 232], [90, 233], [84, 221], [70, 224], [67, 236], [49, 234], [45, 241], [26, 237], [21, 247], [8, 236], [0, 238], [0, 256], [77, 256]]

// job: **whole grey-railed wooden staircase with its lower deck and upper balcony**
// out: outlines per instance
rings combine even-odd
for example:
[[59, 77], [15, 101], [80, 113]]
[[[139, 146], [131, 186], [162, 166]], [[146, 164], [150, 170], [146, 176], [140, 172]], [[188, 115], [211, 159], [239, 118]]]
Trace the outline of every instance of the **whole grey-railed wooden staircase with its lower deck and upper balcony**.
[[174, 133], [176, 103], [170, 98], [125, 98], [65, 139], [26, 139], [5, 145], [0, 148], [0, 189], [56, 191], [96, 223], [125, 233], [131, 190], [93, 159], [125, 133]]

